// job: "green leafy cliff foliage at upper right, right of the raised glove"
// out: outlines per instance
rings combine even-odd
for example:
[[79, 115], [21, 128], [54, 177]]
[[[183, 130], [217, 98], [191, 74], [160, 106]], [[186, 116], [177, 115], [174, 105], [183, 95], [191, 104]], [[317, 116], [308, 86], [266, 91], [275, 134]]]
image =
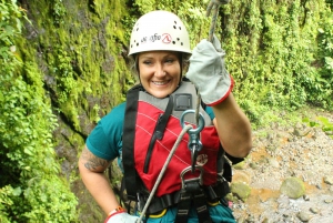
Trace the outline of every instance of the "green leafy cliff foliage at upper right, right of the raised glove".
[[332, 84], [315, 65], [323, 49], [316, 39], [320, 23], [332, 30], [324, 1], [232, 1], [221, 14], [239, 101], [287, 110], [309, 102], [332, 108]]

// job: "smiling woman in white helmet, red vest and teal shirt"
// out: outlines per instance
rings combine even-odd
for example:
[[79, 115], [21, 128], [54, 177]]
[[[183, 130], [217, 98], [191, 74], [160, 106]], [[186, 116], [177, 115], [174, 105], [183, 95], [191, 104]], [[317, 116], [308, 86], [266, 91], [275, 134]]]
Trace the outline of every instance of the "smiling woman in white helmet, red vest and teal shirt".
[[[196, 90], [205, 104], [201, 108], [204, 120], [204, 128], [200, 133], [202, 149], [199, 148], [201, 150], [195, 153], [194, 159], [198, 156], [198, 160], [192, 161], [193, 155], [191, 156], [188, 148], [189, 136], [184, 138], [168, 165], [144, 221], [235, 222], [231, 210], [223, 204], [222, 196], [228, 191], [219, 195], [218, 191], [221, 190], [214, 189], [218, 195], [213, 199], [210, 199], [206, 191], [218, 185], [218, 182], [225, 185], [223, 178], [219, 175], [223, 171], [223, 163], [220, 162], [223, 159], [222, 146], [225, 154], [231, 159], [235, 158], [234, 160], [249, 154], [252, 146], [250, 122], [231, 93], [233, 80], [224, 68], [224, 52], [220, 42], [215, 39], [212, 44], [202, 40], [192, 52], [186, 78], [194, 83], [196, 90], [192, 83], [182, 80], [183, 64], [190, 53], [188, 31], [182, 21], [171, 12], [149, 12], [133, 27], [129, 55], [135, 61], [140, 87], [131, 91], [135, 92], [132, 93], [134, 98], [130, 99], [129, 93], [127, 103], [115, 107], [101, 119], [89, 135], [79, 160], [82, 180], [108, 214], [108, 223], [134, 223], [138, 216], [130, 215], [120, 206], [103, 172], [115, 158], [119, 158], [120, 166], [124, 164], [128, 194], [131, 196], [130, 191], [135, 190], [132, 199], [138, 199], [135, 213], [139, 215], [165, 155], [181, 132], [181, 113], [196, 108]], [[189, 120], [186, 123], [195, 123]], [[164, 126], [160, 124], [163, 122]], [[199, 158], [204, 162], [200, 163]], [[189, 192], [182, 190], [190, 187], [182, 186], [182, 182], [192, 181], [181, 179], [180, 172], [193, 162], [195, 165], [192, 168], [198, 168], [203, 170], [203, 183], [200, 183], [198, 190]], [[196, 175], [193, 176], [195, 178]], [[131, 181], [133, 179], [135, 182]], [[194, 202], [190, 207], [182, 202], [186, 193], [192, 197], [190, 203]], [[143, 199], [140, 194], [143, 194]], [[195, 194], [205, 197], [196, 200], [204, 201], [201, 206], [194, 205]]]

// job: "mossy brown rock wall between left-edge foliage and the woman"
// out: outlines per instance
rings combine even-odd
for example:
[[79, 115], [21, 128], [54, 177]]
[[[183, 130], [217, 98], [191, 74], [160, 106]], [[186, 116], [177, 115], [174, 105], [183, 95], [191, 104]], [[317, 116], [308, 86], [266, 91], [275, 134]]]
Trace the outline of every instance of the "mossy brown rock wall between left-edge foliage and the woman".
[[62, 172], [79, 197], [79, 222], [101, 222], [82, 185], [78, 156], [97, 121], [124, 100], [132, 83], [127, 61], [127, 6], [120, 0], [23, 1], [31, 23], [20, 41], [24, 62], [38, 64], [59, 128], [56, 151]]

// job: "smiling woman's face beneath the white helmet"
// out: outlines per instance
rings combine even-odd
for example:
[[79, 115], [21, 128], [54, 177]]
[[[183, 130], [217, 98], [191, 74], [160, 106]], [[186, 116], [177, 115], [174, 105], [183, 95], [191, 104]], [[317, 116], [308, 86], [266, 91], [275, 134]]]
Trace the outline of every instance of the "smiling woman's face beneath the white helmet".
[[165, 98], [178, 88], [181, 79], [178, 52], [141, 52], [138, 63], [141, 84], [153, 97]]

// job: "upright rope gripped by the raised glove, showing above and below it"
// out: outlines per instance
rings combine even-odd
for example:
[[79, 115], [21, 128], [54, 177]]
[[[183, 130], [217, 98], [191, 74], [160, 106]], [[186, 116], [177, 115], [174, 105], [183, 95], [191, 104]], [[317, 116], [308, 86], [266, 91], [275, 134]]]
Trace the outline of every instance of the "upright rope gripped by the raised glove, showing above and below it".
[[[210, 27], [210, 31], [209, 31], [209, 39], [208, 39], [210, 42], [213, 41], [216, 20], [218, 20], [218, 16], [219, 16], [219, 7], [221, 4], [226, 4], [228, 2], [229, 2], [229, 0], [211, 0], [211, 2], [209, 3], [209, 6], [206, 8], [206, 17], [210, 17], [211, 13], [213, 13], [212, 20], [211, 20], [211, 27]], [[200, 95], [200, 93], [198, 93], [196, 108], [195, 108], [196, 125], [199, 125], [200, 104], [201, 104], [201, 95]]]

